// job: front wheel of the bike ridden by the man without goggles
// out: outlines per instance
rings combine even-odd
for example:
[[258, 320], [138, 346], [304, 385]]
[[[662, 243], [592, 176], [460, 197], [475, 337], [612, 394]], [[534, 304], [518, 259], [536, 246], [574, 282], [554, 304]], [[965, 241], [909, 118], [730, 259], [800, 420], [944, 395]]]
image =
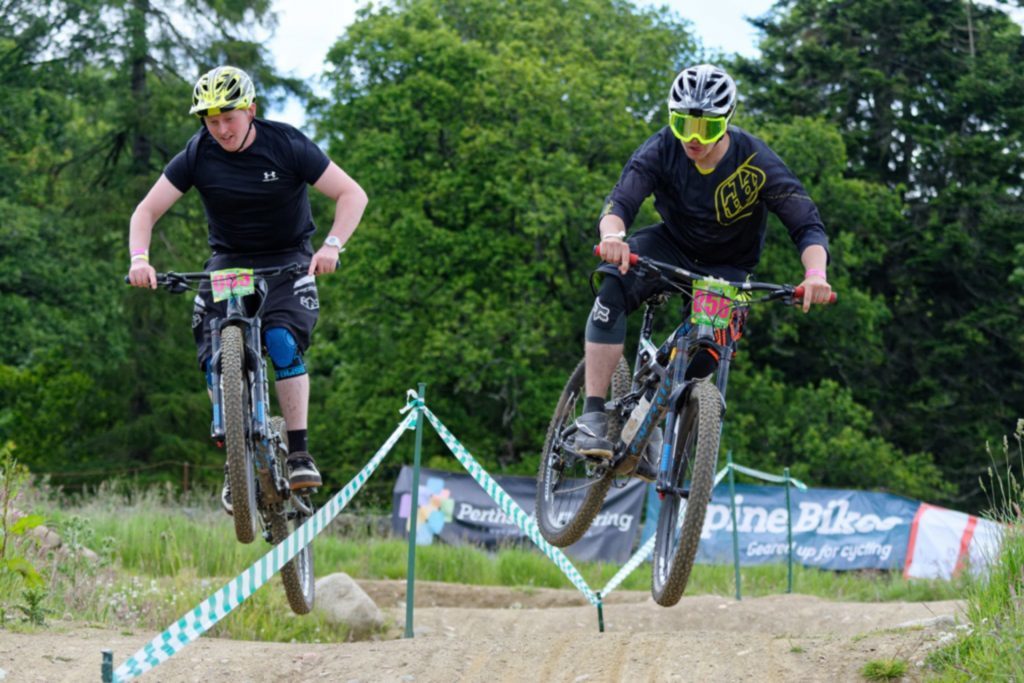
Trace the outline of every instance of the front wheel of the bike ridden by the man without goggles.
[[245, 371], [242, 329], [228, 326], [220, 333], [220, 381], [224, 402], [224, 449], [231, 487], [234, 536], [241, 543], [256, 538], [256, 476], [249, 445], [249, 382]]

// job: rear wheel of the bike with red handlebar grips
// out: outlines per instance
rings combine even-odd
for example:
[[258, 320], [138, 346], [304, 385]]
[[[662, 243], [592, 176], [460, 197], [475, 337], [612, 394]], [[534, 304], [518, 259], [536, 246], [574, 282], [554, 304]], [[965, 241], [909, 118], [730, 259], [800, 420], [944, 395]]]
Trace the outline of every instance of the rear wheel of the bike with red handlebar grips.
[[[600, 512], [614, 479], [607, 464], [602, 466], [575, 455], [563, 439], [565, 430], [583, 414], [585, 373], [585, 361], [581, 360], [562, 389], [537, 473], [537, 525], [541, 536], [559, 548], [583, 538]], [[611, 378], [611, 397], [625, 395], [630, 381], [629, 366], [625, 358], [620, 358]], [[616, 415], [608, 417], [607, 437], [615, 443], [622, 432], [622, 420]]]

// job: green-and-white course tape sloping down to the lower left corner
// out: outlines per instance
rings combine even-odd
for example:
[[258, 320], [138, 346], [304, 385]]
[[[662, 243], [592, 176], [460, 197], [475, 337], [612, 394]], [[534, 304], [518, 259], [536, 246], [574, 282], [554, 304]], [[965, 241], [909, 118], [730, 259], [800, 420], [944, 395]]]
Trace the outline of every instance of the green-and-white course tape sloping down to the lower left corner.
[[384, 442], [384, 445], [370, 459], [366, 467], [345, 484], [327, 505], [317, 510], [302, 526], [271, 548], [252, 566], [228, 582], [195, 609], [183, 614], [181, 618], [167, 627], [147, 645], [128, 657], [115, 670], [114, 681], [128, 681], [141, 676], [177, 654], [185, 645], [199, 639], [217, 622], [227, 616], [232, 609], [269, 581], [289, 560], [298, 555], [300, 550], [312, 543], [313, 539], [338, 516], [338, 513], [358, 493], [370, 475], [384, 460], [384, 456], [394, 447], [398, 437], [415, 422], [416, 414], [417, 411], [413, 411], [406, 416], [404, 420], [398, 424], [391, 436]]

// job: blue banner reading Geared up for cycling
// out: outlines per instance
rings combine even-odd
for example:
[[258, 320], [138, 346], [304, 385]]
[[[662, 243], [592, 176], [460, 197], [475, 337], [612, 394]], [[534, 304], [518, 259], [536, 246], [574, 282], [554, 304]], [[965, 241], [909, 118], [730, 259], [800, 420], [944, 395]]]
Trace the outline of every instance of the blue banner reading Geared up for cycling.
[[[739, 563], [784, 562], [785, 488], [736, 484]], [[794, 561], [829, 570], [898, 569], [906, 560], [920, 503], [870, 492], [791, 488]], [[697, 561], [733, 561], [729, 489], [719, 485], [708, 506]]]

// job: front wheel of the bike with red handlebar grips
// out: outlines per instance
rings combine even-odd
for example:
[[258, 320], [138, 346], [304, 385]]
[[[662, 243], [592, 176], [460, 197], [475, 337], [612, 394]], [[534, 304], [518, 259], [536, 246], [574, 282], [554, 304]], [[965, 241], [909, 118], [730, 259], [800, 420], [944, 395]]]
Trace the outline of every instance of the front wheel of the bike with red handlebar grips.
[[[722, 394], [711, 382], [696, 382], [673, 429], [673, 464], [670, 483], [684, 488], [662, 500], [650, 592], [654, 602], [671, 607], [679, 602], [693, 568], [700, 543], [705, 513], [715, 485], [715, 466], [722, 428]], [[682, 524], [680, 525], [680, 515]]]

